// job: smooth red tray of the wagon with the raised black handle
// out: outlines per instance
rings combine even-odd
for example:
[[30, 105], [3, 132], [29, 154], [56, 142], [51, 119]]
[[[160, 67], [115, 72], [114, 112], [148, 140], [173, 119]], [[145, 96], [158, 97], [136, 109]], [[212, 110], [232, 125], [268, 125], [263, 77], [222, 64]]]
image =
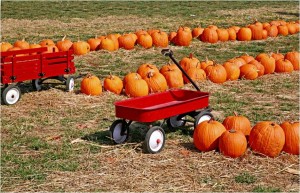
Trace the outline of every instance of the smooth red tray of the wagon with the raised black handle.
[[208, 106], [207, 92], [169, 90], [115, 103], [116, 117], [153, 122]]

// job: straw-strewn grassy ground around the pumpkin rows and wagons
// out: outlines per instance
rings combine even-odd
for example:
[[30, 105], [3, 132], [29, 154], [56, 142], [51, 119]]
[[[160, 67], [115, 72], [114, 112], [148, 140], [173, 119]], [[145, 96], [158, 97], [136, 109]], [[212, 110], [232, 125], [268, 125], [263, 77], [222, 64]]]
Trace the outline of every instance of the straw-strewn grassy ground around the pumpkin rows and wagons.
[[[38, 43], [45, 38], [58, 41], [64, 35], [77, 41], [139, 29], [169, 33], [179, 26], [245, 26], [255, 19], [299, 20], [299, 2], [1, 1], [1, 41], [25, 38]], [[299, 50], [299, 34], [216, 44], [194, 39], [189, 47], [170, 48], [178, 60], [193, 53], [199, 60], [208, 57], [223, 63], [245, 53]], [[161, 67], [169, 59], [159, 48], [136, 46], [131, 51], [90, 52], [74, 61], [76, 75], [93, 73], [103, 80], [109, 73], [123, 77], [143, 63]], [[282, 153], [267, 158], [248, 149], [241, 158], [229, 159], [215, 151], [199, 152], [189, 126], [176, 132], [165, 127], [167, 141], [159, 154], [142, 152], [147, 126], [139, 123], [131, 128], [128, 143], [113, 145], [108, 132], [116, 119], [113, 102], [126, 97], [109, 92], [82, 95], [80, 81], [76, 80], [73, 93], [51, 85], [34, 92], [30, 82], [24, 82], [21, 100], [1, 106], [2, 191], [299, 191], [299, 176], [291, 173], [299, 170], [298, 156]], [[197, 84], [210, 92], [212, 113], [219, 121], [233, 111], [247, 116], [252, 125], [299, 119], [299, 72]]]

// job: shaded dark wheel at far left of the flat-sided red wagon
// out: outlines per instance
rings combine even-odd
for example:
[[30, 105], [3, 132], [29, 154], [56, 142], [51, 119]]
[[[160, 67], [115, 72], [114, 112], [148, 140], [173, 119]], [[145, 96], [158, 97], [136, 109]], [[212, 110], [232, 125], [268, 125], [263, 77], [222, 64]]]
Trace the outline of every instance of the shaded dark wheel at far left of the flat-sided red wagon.
[[129, 134], [129, 126], [124, 120], [116, 120], [110, 126], [110, 134], [115, 144], [124, 143]]

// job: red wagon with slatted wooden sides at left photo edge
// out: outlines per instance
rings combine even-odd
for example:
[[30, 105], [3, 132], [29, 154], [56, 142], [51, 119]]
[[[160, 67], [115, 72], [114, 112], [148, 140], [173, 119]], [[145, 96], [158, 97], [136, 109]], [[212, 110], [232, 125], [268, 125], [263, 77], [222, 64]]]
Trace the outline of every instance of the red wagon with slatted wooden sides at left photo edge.
[[74, 89], [75, 73], [73, 51], [45, 53], [46, 47], [1, 52], [2, 102], [12, 105], [21, 97], [19, 84], [31, 80], [35, 90], [41, 90], [47, 79], [56, 79], [66, 85], [67, 91]]

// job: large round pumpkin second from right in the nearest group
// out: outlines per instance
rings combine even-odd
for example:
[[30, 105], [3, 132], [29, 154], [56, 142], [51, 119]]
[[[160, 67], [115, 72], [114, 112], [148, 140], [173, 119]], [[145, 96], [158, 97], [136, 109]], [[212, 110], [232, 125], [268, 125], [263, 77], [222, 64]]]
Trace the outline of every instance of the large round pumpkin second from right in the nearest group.
[[269, 157], [276, 157], [280, 154], [285, 144], [283, 129], [271, 121], [257, 123], [249, 135], [249, 145], [254, 152]]

